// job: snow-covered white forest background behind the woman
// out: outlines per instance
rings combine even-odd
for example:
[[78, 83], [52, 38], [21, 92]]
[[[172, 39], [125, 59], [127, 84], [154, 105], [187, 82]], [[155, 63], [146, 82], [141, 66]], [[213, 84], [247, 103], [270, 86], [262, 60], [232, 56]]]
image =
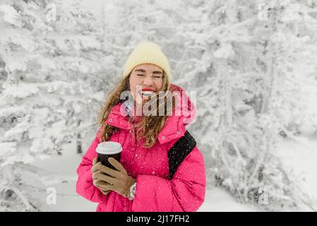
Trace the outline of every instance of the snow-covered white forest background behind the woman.
[[95, 205], [76, 167], [145, 40], [197, 92], [201, 210], [219, 210], [219, 188], [255, 210], [317, 210], [317, 0], [0, 0], [0, 211]]

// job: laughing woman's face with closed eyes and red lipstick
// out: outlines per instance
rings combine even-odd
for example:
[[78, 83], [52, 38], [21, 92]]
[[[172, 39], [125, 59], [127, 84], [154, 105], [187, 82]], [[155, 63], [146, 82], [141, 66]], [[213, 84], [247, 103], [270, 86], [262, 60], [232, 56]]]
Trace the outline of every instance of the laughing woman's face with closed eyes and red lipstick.
[[129, 82], [134, 99], [142, 104], [162, 90], [163, 70], [155, 64], [140, 64], [131, 71]]

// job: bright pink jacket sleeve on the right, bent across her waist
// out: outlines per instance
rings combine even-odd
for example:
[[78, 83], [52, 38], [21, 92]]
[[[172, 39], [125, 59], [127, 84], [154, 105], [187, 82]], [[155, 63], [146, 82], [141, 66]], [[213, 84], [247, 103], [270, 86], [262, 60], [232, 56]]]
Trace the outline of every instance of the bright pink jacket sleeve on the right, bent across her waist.
[[131, 211], [194, 212], [205, 199], [205, 163], [195, 147], [181, 162], [172, 180], [138, 175]]

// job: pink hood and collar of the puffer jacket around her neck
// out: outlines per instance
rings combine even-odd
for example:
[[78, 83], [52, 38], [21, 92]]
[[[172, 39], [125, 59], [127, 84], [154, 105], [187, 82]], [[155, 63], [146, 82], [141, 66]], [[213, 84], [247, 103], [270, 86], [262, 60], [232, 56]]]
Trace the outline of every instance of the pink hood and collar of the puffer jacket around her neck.
[[[193, 123], [196, 119], [196, 107], [185, 90], [174, 84], [170, 85], [170, 90], [173, 95], [177, 95], [179, 98], [176, 98], [175, 110], [172, 115], [167, 117], [165, 126], [158, 133], [157, 139], [161, 144], [184, 136], [186, 125]], [[132, 129], [133, 126], [128, 121], [127, 111], [128, 105], [126, 105], [126, 102], [115, 105], [109, 113], [106, 123], [120, 129]]]

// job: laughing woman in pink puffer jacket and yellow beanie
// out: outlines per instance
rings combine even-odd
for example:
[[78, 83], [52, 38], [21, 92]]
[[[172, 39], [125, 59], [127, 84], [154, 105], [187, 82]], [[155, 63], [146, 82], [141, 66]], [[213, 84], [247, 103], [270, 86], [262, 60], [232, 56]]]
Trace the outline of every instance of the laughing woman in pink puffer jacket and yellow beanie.
[[[181, 92], [184, 90], [170, 84], [169, 76], [169, 63], [155, 43], [138, 44], [128, 57], [123, 78], [100, 114], [101, 126], [95, 141], [77, 169], [76, 191], [99, 203], [98, 212], [196, 211], [203, 203], [203, 155], [196, 142], [189, 150], [189, 133], [185, 128], [193, 121], [194, 106], [188, 99], [186, 107], [191, 114], [177, 114], [176, 109], [184, 107], [184, 102], [172, 98], [172, 108], [169, 107], [167, 97], [171, 92], [188, 97]], [[160, 96], [160, 91], [165, 91], [165, 95]], [[121, 100], [126, 92], [131, 92], [133, 99]], [[164, 100], [150, 105], [157, 107], [153, 107], [157, 115], [143, 111], [137, 114], [138, 107], [145, 107], [156, 97]], [[162, 106], [163, 115], [158, 114]], [[95, 149], [103, 141], [116, 141], [123, 148], [120, 162], [109, 158], [116, 170], [97, 162]]]

